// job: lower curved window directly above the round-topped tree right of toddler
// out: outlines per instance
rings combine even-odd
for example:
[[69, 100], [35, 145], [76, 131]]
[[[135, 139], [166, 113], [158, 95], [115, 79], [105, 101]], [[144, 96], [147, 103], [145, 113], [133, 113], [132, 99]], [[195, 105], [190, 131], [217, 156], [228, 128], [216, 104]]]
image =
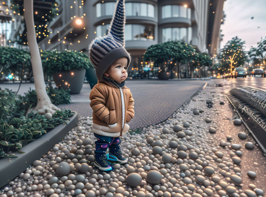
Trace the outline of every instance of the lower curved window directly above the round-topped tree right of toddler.
[[190, 44], [192, 39], [192, 28], [188, 27], [170, 27], [163, 28], [163, 42], [167, 41], [183, 41]]

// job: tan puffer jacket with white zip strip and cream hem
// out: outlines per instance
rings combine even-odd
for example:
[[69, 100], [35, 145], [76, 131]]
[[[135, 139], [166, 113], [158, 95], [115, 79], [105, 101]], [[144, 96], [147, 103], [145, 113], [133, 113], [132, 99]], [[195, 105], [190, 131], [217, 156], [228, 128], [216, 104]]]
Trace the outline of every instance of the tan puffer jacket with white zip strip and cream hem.
[[129, 130], [127, 123], [134, 118], [134, 99], [129, 88], [98, 81], [91, 90], [90, 100], [94, 133], [119, 137]]

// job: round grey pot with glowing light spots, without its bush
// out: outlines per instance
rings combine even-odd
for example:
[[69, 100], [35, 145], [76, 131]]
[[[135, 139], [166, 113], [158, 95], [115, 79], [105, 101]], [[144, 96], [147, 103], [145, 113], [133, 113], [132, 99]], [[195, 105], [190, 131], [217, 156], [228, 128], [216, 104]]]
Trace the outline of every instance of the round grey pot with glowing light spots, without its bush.
[[85, 73], [85, 68], [61, 71], [53, 74], [53, 81], [57, 87], [62, 86], [64, 90], [69, 88], [70, 94], [79, 94], [83, 86]]

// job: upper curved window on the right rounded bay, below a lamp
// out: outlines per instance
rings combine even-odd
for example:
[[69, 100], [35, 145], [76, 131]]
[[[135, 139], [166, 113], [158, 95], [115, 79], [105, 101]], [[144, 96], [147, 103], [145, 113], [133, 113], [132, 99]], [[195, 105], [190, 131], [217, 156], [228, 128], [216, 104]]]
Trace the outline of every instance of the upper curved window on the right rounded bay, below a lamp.
[[191, 9], [178, 5], [162, 6], [162, 18], [182, 17], [191, 18]]

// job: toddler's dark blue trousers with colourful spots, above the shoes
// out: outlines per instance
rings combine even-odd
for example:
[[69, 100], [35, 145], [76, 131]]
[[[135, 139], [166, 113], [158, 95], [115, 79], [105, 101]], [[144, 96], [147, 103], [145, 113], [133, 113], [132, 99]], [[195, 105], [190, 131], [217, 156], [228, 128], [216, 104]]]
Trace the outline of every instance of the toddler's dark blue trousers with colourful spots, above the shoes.
[[95, 141], [95, 154], [105, 153], [105, 151], [107, 151], [107, 148], [111, 149], [113, 147], [118, 147], [121, 143], [121, 139], [119, 137], [103, 136], [96, 133], [94, 133], [94, 136], [97, 138], [97, 140]]

